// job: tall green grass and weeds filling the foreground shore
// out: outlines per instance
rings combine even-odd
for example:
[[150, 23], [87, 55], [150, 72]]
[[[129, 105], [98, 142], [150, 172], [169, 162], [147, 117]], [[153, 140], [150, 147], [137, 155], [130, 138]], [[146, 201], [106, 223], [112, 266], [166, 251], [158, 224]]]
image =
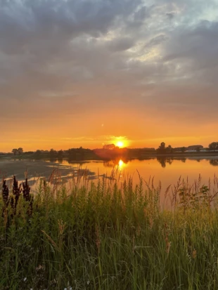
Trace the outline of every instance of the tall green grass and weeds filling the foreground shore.
[[15, 213], [9, 202], [0, 219], [0, 289], [217, 289], [210, 183], [179, 180], [166, 192], [171, 209], [161, 209], [151, 181], [111, 179], [72, 177], [70, 192], [41, 181], [33, 202], [20, 194]]

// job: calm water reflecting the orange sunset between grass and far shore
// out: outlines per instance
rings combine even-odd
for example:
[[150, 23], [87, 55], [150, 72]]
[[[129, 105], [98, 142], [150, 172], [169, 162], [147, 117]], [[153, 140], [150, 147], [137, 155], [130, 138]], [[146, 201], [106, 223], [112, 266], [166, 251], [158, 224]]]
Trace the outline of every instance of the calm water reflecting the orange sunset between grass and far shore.
[[[69, 162], [67, 160], [14, 160], [0, 159], [0, 177], [10, 178], [15, 175], [18, 180], [25, 179], [27, 173], [29, 180], [33, 184], [40, 177], [49, 178], [53, 169], [58, 169], [60, 182], [69, 183], [70, 176], [77, 174], [79, 166], [83, 170], [87, 169], [89, 180], [98, 180], [98, 177], [110, 176], [113, 169], [117, 170], [116, 178], [122, 183], [125, 177], [132, 176], [133, 182], [139, 181], [139, 174], [148, 181], [154, 177], [155, 185], [159, 180], [162, 183], [162, 189], [165, 190], [168, 185], [177, 183], [181, 178], [187, 178], [190, 183], [202, 176], [202, 183], [208, 184], [209, 178], [214, 174], [218, 176], [218, 157], [198, 157], [198, 158], [151, 158], [146, 160], [132, 160], [124, 162], [122, 160], [101, 162]], [[139, 174], [138, 174], [138, 172]]]

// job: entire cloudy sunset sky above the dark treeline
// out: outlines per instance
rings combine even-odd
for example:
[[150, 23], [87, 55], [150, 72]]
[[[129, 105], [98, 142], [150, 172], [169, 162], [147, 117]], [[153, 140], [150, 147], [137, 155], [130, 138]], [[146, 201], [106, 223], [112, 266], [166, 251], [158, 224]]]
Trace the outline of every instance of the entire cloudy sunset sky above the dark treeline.
[[0, 152], [218, 139], [217, 0], [0, 0]]

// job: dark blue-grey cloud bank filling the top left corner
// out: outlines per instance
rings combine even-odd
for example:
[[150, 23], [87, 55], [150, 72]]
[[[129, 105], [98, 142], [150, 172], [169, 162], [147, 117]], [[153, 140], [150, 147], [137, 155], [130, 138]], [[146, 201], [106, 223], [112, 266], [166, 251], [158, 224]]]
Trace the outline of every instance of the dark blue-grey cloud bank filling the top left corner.
[[[8, 67], [25, 70], [52, 61], [69, 49], [82, 34], [100, 37], [126, 18], [139, 0], [124, 1], [1, 1], [0, 51], [18, 55]], [[23, 58], [23, 59], [22, 59]]]

